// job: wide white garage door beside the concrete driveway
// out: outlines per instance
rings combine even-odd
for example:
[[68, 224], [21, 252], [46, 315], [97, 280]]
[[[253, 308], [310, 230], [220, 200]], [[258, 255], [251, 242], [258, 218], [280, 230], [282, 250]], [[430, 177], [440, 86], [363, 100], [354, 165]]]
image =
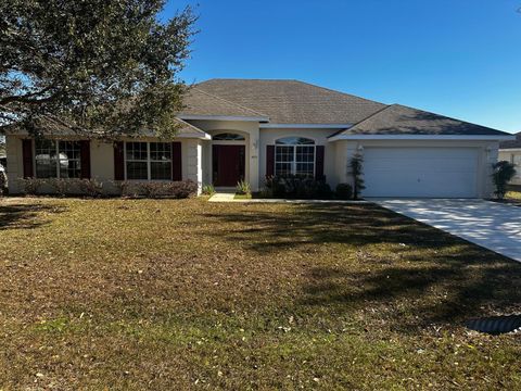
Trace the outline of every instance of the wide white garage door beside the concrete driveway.
[[474, 198], [475, 148], [366, 148], [365, 197]]

